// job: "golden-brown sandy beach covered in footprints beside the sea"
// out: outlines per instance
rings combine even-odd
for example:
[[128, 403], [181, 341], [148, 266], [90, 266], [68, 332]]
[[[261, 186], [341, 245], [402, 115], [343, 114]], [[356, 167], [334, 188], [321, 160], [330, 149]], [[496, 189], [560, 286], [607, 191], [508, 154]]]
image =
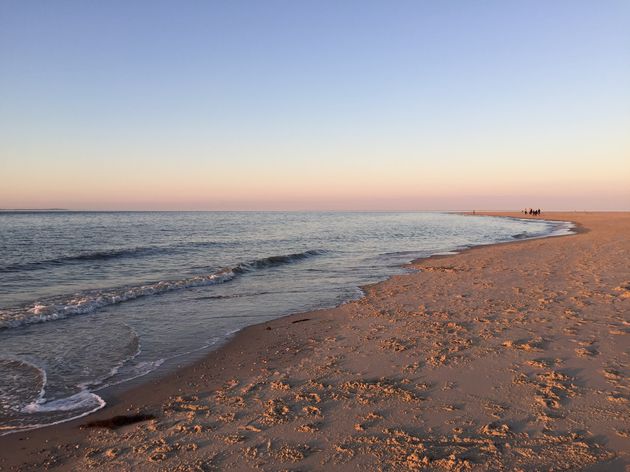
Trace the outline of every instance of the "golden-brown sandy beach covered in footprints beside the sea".
[[[630, 214], [543, 217], [580, 233], [249, 327], [89, 418], [0, 438], [0, 469], [626, 470]], [[135, 413], [155, 419], [80, 427]]]

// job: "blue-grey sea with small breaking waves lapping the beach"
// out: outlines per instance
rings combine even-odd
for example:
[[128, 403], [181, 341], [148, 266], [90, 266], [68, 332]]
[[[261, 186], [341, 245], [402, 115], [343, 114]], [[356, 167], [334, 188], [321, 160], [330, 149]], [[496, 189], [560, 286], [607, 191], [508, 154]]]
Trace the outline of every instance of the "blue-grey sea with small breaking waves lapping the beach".
[[444, 213], [0, 213], [0, 434], [239, 329], [357, 298], [401, 264], [566, 234]]

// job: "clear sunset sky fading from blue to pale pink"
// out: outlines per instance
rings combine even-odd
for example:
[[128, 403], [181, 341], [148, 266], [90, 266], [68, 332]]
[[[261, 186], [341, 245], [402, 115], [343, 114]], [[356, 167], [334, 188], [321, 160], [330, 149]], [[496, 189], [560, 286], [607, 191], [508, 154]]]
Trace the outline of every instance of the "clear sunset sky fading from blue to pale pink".
[[0, 208], [630, 209], [630, 2], [0, 0]]

